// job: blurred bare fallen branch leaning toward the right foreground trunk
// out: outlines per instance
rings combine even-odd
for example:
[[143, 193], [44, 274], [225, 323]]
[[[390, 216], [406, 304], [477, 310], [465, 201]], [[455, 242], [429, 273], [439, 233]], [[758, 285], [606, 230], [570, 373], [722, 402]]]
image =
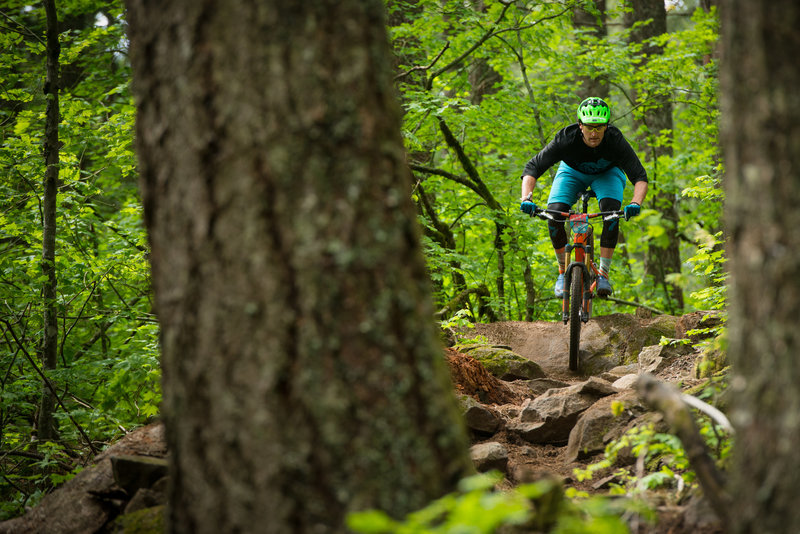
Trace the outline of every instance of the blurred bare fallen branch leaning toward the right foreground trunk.
[[672, 432], [681, 440], [703, 494], [727, 532], [731, 498], [725, 489], [725, 477], [709, 455], [682, 393], [671, 384], [649, 374], [639, 377], [636, 389], [645, 403], [664, 416]]

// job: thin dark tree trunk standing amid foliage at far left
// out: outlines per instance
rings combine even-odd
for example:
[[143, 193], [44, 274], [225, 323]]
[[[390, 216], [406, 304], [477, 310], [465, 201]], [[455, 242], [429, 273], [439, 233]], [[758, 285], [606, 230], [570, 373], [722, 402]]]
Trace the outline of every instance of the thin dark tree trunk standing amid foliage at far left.
[[[47, 99], [45, 110], [44, 136], [44, 196], [42, 198], [42, 288], [43, 328], [41, 341], [42, 372], [47, 376], [58, 365], [58, 303], [56, 277], [56, 198], [58, 196], [58, 123], [61, 121], [58, 109], [59, 55], [58, 17], [55, 0], [45, 0], [47, 18], [47, 74], [44, 93]], [[42, 384], [42, 399], [37, 420], [40, 440], [55, 439], [57, 429], [53, 420], [55, 396], [47, 383]]]

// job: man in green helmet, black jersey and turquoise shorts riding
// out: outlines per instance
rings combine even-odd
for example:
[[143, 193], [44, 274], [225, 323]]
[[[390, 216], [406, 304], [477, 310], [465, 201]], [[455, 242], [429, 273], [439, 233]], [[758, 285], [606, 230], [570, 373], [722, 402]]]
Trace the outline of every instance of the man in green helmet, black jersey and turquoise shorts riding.
[[[562, 128], [550, 143], [525, 165], [522, 174], [522, 204], [520, 209], [533, 214], [533, 188], [544, 172], [560, 161], [550, 188], [547, 208], [569, 211], [578, 195], [591, 186], [600, 204], [600, 211], [619, 210], [625, 178], [633, 184], [633, 199], [625, 206], [625, 219], [639, 215], [647, 196], [647, 172], [633, 148], [616, 126], [609, 124], [611, 110], [601, 98], [590, 97], [578, 106], [578, 122]], [[558, 260], [556, 297], [564, 296], [567, 232], [565, 219], [548, 221], [550, 241]], [[600, 276], [597, 294], [607, 297], [613, 292], [608, 280], [611, 258], [619, 239], [619, 221], [603, 222], [600, 236]]]

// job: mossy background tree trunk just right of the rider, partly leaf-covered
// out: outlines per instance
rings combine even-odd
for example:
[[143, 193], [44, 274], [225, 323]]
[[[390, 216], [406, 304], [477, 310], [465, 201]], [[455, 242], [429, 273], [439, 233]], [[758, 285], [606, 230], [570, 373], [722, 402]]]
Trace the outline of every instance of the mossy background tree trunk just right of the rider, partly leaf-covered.
[[[632, 11], [628, 14], [627, 25], [636, 22], [650, 21], [631, 32], [631, 41], [642, 43], [642, 64], [649, 58], [660, 55], [663, 50], [659, 46], [648, 43], [655, 36], [667, 33], [667, 12], [664, 0], [632, 0]], [[667, 275], [681, 272], [680, 239], [678, 238], [678, 211], [675, 207], [675, 186], [659, 173], [659, 158], [672, 155], [672, 144], [664, 142], [664, 135], [672, 135], [672, 100], [669, 87], [663, 92], [649, 95], [650, 102], [639, 101], [637, 92], [631, 91], [637, 104], [646, 110], [641, 118], [635, 121], [642, 127], [642, 138], [646, 148], [646, 159], [652, 163], [650, 176], [649, 203], [661, 213], [664, 230], [667, 235], [666, 246], [650, 244], [645, 258], [645, 273], [652, 277], [656, 287], [664, 289], [668, 308], [671, 313], [680, 313], [683, 308], [683, 290], [667, 282]], [[664, 132], [669, 132], [664, 134]]]

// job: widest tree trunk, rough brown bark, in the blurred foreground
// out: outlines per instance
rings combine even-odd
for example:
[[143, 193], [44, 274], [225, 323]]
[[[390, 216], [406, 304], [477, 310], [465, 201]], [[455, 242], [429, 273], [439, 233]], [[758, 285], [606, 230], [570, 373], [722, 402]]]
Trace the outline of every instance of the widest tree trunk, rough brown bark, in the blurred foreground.
[[469, 469], [375, 0], [129, 0], [171, 532], [343, 532]]

